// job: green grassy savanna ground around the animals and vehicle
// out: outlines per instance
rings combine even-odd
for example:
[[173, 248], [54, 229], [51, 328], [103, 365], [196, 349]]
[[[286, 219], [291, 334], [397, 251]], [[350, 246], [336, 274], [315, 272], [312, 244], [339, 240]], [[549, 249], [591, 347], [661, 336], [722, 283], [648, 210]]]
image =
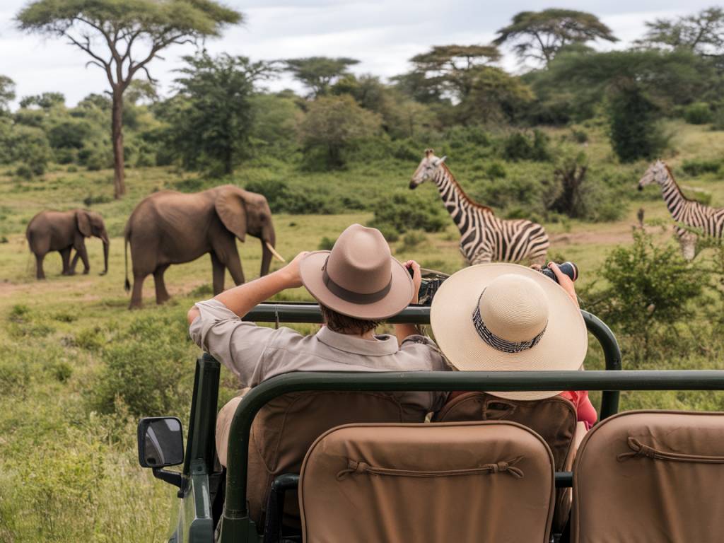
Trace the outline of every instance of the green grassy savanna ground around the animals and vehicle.
[[[718, 174], [692, 177], [681, 171], [685, 160], [719, 159], [724, 132], [683, 122], [673, 122], [668, 128], [673, 133], [669, 164], [681, 185], [686, 190], [703, 190], [710, 194], [712, 205], [724, 206], [724, 183]], [[548, 133], [557, 140], [568, 129]], [[552, 239], [550, 258], [575, 261], [582, 286], [599, 277], [607, 253], [631, 242], [639, 207], [647, 220], [660, 219], [664, 224], [649, 227], [656, 243], [674, 243], [660, 190], [636, 193], [636, 181], [647, 163], [618, 166], [602, 131], [594, 128], [589, 134], [586, 153], [591, 157], [592, 182], [603, 182], [597, 172], [618, 176], [617, 200], [610, 204], [623, 209], [622, 218], [594, 223], [553, 216], [551, 222], [544, 221]], [[485, 153], [477, 158], [469, 150], [456, 154], [445, 143], [436, 151], [448, 154], [452, 172], [471, 195], [484, 194], [489, 188], [492, 181], [479, 174], [481, 164], [491, 160]], [[291, 258], [299, 251], [315, 250], [324, 237], [334, 240], [350, 223], [370, 222], [372, 202], [390, 191], [407, 190], [418, 159], [382, 156], [350, 161], [345, 170], [325, 173], [255, 159], [227, 181], [246, 186], [279, 180], [300, 192], [315, 193], [321, 201], [334, 201], [334, 211], [345, 211], [344, 202], [355, 208], [335, 214], [275, 214], [277, 250]], [[507, 180], [549, 174], [546, 165], [526, 161], [502, 161], [502, 166], [508, 170]], [[138, 468], [135, 421], [143, 415], [177, 415], [182, 421], [188, 416], [198, 349], [188, 339], [185, 313], [196, 300], [211, 296], [211, 263], [204, 257], [169, 268], [166, 279], [172, 300], [160, 307], [149, 277], [143, 293], [145, 307], [127, 311], [122, 230], [133, 207], [153, 191], [193, 191], [218, 182], [164, 167], [127, 169], [128, 193], [114, 201], [110, 170], [56, 166], [33, 180], [18, 180], [12, 172], [0, 171], [0, 239], [4, 241], [0, 243], [0, 348], [4, 352], [0, 361], [0, 542], [161, 541], [169, 525], [174, 491]], [[418, 188], [414, 196], [442, 209], [430, 185]], [[24, 237], [28, 220], [42, 209], [76, 207], [90, 207], [106, 220], [111, 235], [109, 274], [98, 275], [101, 243], [91, 238], [87, 241], [90, 274], [60, 276], [60, 257], [51, 253], [45, 261], [48, 279], [36, 281]], [[512, 204], [497, 211], [517, 213]], [[400, 235], [391, 244], [395, 256], [415, 258], [442, 271], [460, 269], [458, 232], [447, 215], [445, 224], [441, 232]], [[253, 279], [258, 275], [261, 248], [250, 237], [239, 249], [246, 277]], [[708, 258], [707, 254], [697, 258]], [[272, 269], [279, 265], [274, 262]], [[300, 300], [308, 295], [300, 289], [282, 298]], [[706, 328], [704, 317], [697, 318], [693, 326]], [[655, 365], [661, 369], [721, 368], [721, 349], [718, 342], [706, 340], [686, 353], [673, 349], [670, 359], [657, 358]], [[625, 367], [626, 363], [625, 353]], [[592, 348], [587, 367], [601, 364], [598, 349]], [[222, 384], [220, 402], [237, 389], [225, 371]], [[724, 403], [711, 393], [624, 395], [622, 408], [641, 406], [721, 409]]]

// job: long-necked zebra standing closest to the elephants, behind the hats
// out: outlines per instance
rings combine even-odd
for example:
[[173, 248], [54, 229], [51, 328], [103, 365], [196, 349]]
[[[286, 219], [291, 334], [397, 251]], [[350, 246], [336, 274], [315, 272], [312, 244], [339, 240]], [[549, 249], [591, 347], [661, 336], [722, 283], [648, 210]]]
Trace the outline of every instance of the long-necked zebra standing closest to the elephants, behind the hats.
[[529, 260], [543, 264], [550, 242], [540, 224], [526, 219], [498, 219], [493, 210], [472, 201], [452, 177], [445, 163], [432, 149], [415, 170], [410, 188], [432, 180], [437, 185], [442, 203], [452, 222], [460, 230], [460, 251], [469, 264], [492, 261], [518, 262]]

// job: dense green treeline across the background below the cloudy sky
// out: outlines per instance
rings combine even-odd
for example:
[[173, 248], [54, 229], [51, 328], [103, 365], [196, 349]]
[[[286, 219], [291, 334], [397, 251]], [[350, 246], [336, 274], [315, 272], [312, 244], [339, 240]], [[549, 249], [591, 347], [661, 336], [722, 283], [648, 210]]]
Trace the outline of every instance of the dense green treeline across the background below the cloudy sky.
[[[617, 38], [593, 14], [521, 12], [494, 43], [434, 46], [389, 82], [353, 75], [355, 59], [253, 62], [201, 51], [184, 58], [172, 96], [159, 97], [151, 80], [129, 80], [122, 93], [124, 164], [223, 176], [245, 160], [271, 156], [330, 170], [390, 156], [413, 161], [426, 146], [464, 140], [487, 157], [550, 162], [560, 185], [550, 209], [585, 216], [584, 151], [578, 145], [552, 153], [534, 127], [604, 125], [623, 162], [659, 155], [668, 143], [661, 127], [667, 118], [724, 130], [724, 11], [646, 24], [629, 49], [598, 52], [594, 41]], [[529, 67], [523, 75], [498, 66], [501, 47]], [[281, 72], [306, 92], [265, 90]], [[12, 80], [0, 77], [0, 162], [13, 164], [17, 177], [42, 175], [51, 162], [114, 166], [110, 97], [93, 94], [68, 107], [61, 94], [43, 93], [9, 111], [14, 97]], [[571, 133], [572, 143], [586, 138], [585, 131]]]

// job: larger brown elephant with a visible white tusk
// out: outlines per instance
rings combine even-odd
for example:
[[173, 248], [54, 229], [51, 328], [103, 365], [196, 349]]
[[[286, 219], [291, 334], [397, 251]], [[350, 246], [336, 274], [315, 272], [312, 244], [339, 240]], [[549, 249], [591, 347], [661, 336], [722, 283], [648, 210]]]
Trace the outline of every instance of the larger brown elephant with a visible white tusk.
[[228, 268], [236, 285], [244, 282], [236, 238], [253, 235], [261, 240], [261, 275], [269, 273], [271, 257], [284, 258], [274, 250], [277, 243], [271, 209], [261, 194], [234, 185], [185, 194], [161, 190], [144, 198], [133, 210], [125, 228], [126, 291], [128, 244], [131, 246], [133, 292], [130, 309], [140, 308], [143, 280], [153, 274], [156, 303], [169, 300], [164, 272], [171, 264], [190, 262], [210, 253], [214, 294], [224, 290]]

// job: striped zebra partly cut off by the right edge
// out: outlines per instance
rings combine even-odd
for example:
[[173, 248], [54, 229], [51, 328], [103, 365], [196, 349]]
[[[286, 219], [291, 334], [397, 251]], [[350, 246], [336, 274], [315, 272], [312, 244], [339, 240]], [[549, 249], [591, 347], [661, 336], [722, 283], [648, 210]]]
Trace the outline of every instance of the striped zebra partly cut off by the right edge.
[[[674, 231], [681, 243], [683, 258], [692, 260], [696, 256], [697, 232], [701, 235], [722, 237], [724, 209], [704, 206], [703, 203], [686, 198], [676, 184], [669, 167], [660, 160], [649, 166], [644, 177], [641, 177], [639, 190], [644, 190], [646, 185], [652, 183], [661, 185], [666, 207], [677, 223]], [[696, 231], [692, 232], [691, 229]]]

